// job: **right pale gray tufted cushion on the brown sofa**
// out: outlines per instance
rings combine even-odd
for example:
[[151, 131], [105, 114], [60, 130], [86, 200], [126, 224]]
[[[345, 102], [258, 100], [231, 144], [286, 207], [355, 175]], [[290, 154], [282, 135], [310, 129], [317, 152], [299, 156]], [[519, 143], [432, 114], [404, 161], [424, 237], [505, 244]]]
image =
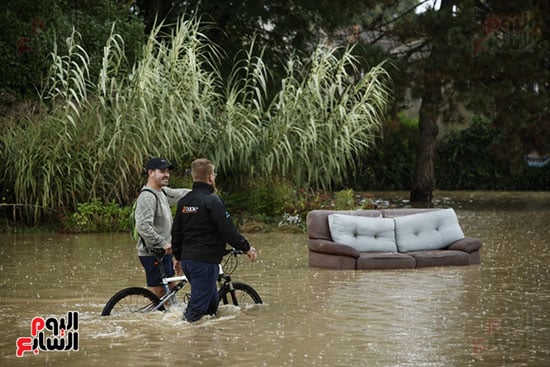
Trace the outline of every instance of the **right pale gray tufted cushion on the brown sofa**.
[[394, 220], [399, 252], [438, 250], [464, 238], [453, 209], [405, 215]]

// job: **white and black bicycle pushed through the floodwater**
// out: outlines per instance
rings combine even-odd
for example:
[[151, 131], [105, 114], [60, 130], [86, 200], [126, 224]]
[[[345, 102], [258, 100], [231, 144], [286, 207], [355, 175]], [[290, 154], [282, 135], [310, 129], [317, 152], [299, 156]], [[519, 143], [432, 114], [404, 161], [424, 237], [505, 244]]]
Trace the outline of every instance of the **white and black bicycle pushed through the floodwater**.
[[[161, 253], [159, 253], [162, 251]], [[155, 255], [157, 261], [162, 259], [164, 250]], [[218, 276], [218, 297], [220, 305], [232, 304], [234, 306], [247, 306], [261, 304], [262, 299], [258, 292], [250, 285], [243, 282], [236, 282], [231, 279], [231, 274], [238, 265], [237, 256], [244, 254], [243, 251], [226, 249], [223, 265], [220, 264]], [[166, 311], [170, 306], [178, 304], [177, 293], [189, 283], [185, 275], [167, 277], [163, 266], [159, 266], [164, 287], [164, 295], [159, 298], [149, 289], [141, 287], [124, 288], [115, 293], [105, 304], [101, 316], [124, 313], [144, 313], [153, 311]], [[169, 289], [168, 284], [177, 282]], [[189, 295], [185, 295], [188, 298]]]

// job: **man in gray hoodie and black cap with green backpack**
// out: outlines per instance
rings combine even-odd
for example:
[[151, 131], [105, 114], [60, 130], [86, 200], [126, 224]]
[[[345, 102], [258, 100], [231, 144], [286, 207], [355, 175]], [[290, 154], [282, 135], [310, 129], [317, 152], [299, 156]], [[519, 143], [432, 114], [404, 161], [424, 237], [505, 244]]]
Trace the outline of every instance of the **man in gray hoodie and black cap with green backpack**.
[[[168, 187], [169, 170], [173, 166], [166, 159], [153, 158], [145, 165], [147, 184], [142, 187], [136, 201], [135, 222], [139, 239], [136, 244], [139, 260], [145, 269], [147, 286], [158, 297], [164, 294], [159, 266], [164, 266], [167, 276], [174, 275], [172, 262], [172, 212], [190, 189]], [[162, 262], [157, 261], [153, 249], [163, 249]]]

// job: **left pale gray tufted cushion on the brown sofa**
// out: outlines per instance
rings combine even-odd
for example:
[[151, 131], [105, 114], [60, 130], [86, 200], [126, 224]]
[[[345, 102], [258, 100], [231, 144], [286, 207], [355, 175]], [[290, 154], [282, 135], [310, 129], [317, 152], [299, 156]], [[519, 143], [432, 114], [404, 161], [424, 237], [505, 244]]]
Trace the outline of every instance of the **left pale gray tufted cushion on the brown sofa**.
[[352, 246], [359, 252], [397, 251], [391, 218], [331, 214], [328, 224], [334, 242]]

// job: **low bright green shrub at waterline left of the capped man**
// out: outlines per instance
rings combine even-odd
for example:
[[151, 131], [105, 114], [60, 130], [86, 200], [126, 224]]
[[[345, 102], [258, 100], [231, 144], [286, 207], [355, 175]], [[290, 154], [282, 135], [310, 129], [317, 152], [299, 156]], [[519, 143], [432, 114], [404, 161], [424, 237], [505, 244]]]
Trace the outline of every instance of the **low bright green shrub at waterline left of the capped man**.
[[118, 206], [114, 201], [103, 203], [94, 199], [80, 203], [76, 212], [62, 221], [66, 232], [125, 232], [130, 227], [131, 207]]

